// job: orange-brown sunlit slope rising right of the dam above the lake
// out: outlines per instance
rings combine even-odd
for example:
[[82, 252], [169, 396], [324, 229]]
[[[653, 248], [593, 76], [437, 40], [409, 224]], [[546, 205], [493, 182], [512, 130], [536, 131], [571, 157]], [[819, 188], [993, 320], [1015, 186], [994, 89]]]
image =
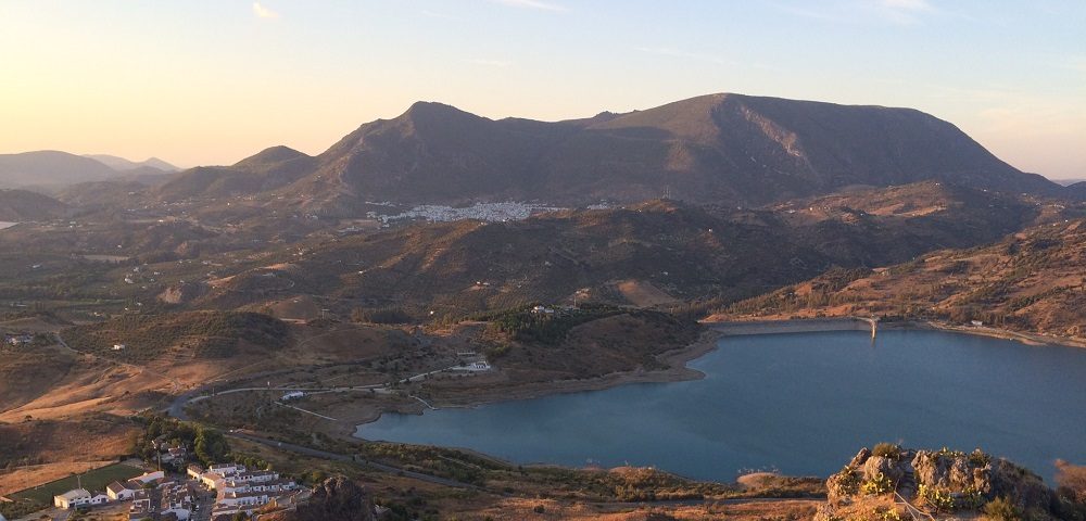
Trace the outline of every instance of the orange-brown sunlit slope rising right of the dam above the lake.
[[905, 315], [1086, 338], [1086, 219], [947, 250], [849, 281], [821, 276], [741, 302], [736, 316]]

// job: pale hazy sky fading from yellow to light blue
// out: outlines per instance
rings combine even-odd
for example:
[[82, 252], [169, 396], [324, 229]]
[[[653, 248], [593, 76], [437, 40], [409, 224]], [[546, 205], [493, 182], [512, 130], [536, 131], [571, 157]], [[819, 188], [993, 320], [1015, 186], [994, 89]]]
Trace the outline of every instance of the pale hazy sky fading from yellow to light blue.
[[1086, 1], [0, 0], [0, 152], [228, 164], [417, 100], [561, 119], [709, 92], [911, 106], [1086, 177]]

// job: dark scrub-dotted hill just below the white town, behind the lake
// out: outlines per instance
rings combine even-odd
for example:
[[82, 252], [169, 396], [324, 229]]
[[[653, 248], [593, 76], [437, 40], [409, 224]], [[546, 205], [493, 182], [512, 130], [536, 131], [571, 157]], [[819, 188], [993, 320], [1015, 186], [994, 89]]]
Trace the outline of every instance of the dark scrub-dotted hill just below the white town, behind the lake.
[[[590, 297], [624, 302], [614, 287], [630, 279], [682, 300], [720, 291], [753, 294], [818, 274], [832, 262], [796, 244], [771, 215], [729, 223], [697, 208], [654, 203], [520, 223], [419, 225], [326, 242], [281, 274], [295, 285], [280, 294], [465, 314], [569, 301], [580, 289], [589, 289]], [[263, 302], [268, 295], [254, 291], [253, 282], [231, 280], [194, 305]], [[274, 278], [264, 283], [281, 287]]]

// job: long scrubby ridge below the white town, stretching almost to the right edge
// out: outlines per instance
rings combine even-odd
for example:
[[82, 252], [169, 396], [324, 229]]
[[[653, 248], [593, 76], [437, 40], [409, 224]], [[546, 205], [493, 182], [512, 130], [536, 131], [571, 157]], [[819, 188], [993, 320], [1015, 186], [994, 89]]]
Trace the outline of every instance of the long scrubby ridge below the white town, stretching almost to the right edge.
[[[942, 202], [922, 215], [879, 212], [871, 203], [868, 214], [856, 209], [863, 199], [898, 208]], [[192, 305], [232, 308], [315, 294], [331, 307], [440, 316], [574, 298], [665, 307], [732, 301], [831, 266], [899, 263], [1052, 218], [1033, 203], [938, 183], [819, 201], [824, 215], [792, 209], [800, 204], [816, 203], [737, 211], [656, 201], [525, 221], [418, 224], [312, 243], [304, 254], [274, 257], [281, 260], [274, 268], [212, 281]], [[848, 205], [856, 208], [841, 209]]]

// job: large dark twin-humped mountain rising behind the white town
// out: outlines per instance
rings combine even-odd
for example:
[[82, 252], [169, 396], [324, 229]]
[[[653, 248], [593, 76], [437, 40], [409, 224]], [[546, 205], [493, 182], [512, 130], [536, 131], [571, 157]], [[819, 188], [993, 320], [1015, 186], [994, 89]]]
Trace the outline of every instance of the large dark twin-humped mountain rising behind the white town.
[[760, 205], [849, 186], [927, 179], [1069, 196], [911, 109], [710, 94], [557, 123], [488, 119], [419, 102], [362, 125], [280, 194], [316, 213], [361, 201], [586, 204], [669, 194]]

